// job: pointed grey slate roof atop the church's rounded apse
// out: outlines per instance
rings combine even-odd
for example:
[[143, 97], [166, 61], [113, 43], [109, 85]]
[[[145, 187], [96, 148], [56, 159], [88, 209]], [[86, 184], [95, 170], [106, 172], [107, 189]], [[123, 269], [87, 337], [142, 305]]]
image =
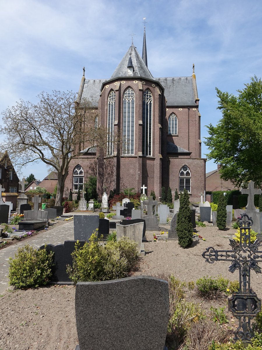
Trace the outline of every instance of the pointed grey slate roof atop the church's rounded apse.
[[[129, 57], [131, 58], [132, 64], [134, 67], [132, 75], [128, 74], [128, 70], [127, 70], [127, 67], [129, 64]], [[143, 77], [146, 79], [155, 80], [151, 75], [151, 73], [149, 72], [145, 62], [143, 61], [143, 59], [141, 58], [141, 56], [139, 55], [139, 53], [137, 52], [133, 44], [127, 50], [125, 56], [122, 58], [119, 65], [116, 67], [114, 73], [112, 74], [109, 80], [119, 78], [119, 77], [130, 77], [130, 76]]]

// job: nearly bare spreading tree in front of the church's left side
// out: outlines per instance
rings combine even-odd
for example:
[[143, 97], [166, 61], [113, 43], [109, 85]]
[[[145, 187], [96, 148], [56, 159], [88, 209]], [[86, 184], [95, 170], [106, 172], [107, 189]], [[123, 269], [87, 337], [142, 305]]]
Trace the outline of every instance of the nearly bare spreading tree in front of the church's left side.
[[106, 147], [107, 131], [98, 125], [98, 112], [92, 102], [77, 102], [73, 92], [41, 92], [39, 102], [19, 100], [2, 112], [0, 131], [16, 169], [43, 161], [57, 171], [56, 205], [61, 205], [69, 163], [84, 146]]

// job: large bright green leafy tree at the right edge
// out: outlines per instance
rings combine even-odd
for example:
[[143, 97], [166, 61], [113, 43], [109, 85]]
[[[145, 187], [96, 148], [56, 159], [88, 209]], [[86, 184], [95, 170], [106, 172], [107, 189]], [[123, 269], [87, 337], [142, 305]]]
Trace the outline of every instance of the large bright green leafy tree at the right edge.
[[216, 90], [222, 119], [217, 126], [207, 126], [207, 158], [221, 164], [223, 180], [231, 180], [238, 187], [253, 180], [261, 187], [262, 81], [252, 77], [243, 90], [238, 90], [238, 96]]

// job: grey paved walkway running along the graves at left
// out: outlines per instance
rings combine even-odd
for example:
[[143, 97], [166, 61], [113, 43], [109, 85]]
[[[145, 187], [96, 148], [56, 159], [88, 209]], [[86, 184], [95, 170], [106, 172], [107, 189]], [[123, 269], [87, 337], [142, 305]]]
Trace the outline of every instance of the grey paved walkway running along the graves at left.
[[[76, 214], [80, 214], [79, 212]], [[85, 214], [85, 213], [84, 213]], [[90, 214], [89, 214], [90, 215]], [[74, 239], [74, 223], [73, 220], [65, 223], [64, 225], [54, 227], [53, 229], [40, 232], [37, 236], [25, 239], [22, 242], [13, 244], [9, 247], [0, 250], [0, 294], [2, 294], [5, 289], [8, 288], [8, 269], [9, 257], [14, 258], [17, 248], [24, 246], [29, 243], [35, 248], [41, 247], [45, 243], [51, 244], [63, 244], [65, 240]]]

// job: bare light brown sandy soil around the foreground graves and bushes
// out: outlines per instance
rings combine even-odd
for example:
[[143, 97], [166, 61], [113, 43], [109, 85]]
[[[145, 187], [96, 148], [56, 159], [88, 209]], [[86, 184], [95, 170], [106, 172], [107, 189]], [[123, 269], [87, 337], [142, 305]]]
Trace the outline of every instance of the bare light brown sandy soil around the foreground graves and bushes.
[[[238, 280], [238, 272], [228, 271], [230, 262], [208, 264], [201, 254], [209, 246], [215, 249], [229, 249], [228, 236], [234, 229], [219, 231], [215, 227], [198, 228], [206, 239], [199, 239], [192, 247], [183, 249], [177, 241], [154, 242], [152, 232], [147, 232], [146, 255], [141, 259], [136, 275], [173, 273], [182, 281], [196, 281], [205, 275], [222, 274], [229, 280]], [[253, 289], [261, 297], [262, 278], [251, 273]], [[187, 293], [187, 299], [201, 303], [208, 313], [210, 305], [227, 305], [227, 300], [201, 300], [196, 292]], [[0, 350], [75, 350], [77, 331], [75, 323], [75, 287], [51, 286], [28, 290], [10, 288], [0, 298]], [[226, 306], [227, 309], [227, 306]], [[228, 313], [230, 324], [234, 319]], [[235, 328], [235, 327], [234, 327]]]

